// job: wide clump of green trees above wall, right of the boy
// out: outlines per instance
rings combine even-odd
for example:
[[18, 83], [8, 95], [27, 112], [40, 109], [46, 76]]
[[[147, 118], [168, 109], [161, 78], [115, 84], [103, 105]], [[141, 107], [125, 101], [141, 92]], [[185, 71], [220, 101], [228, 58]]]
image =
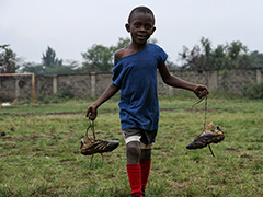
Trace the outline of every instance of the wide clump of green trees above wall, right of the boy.
[[195, 45], [192, 50], [183, 47], [179, 54], [183, 69], [237, 69], [254, 67], [248, 47], [241, 42], [232, 42], [226, 45], [218, 45], [215, 49], [207, 38], [201, 39], [201, 46]]

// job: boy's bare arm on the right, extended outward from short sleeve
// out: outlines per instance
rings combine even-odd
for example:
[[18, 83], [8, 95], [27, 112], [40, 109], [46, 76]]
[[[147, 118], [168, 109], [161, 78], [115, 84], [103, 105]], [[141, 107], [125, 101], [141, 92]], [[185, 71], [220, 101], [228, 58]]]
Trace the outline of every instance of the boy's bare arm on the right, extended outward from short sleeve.
[[193, 91], [199, 99], [209, 94], [209, 90], [205, 85], [191, 83], [172, 76], [169, 72], [165, 63], [159, 67], [159, 72], [161, 74], [163, 82], [167, 83], [168, 85]]

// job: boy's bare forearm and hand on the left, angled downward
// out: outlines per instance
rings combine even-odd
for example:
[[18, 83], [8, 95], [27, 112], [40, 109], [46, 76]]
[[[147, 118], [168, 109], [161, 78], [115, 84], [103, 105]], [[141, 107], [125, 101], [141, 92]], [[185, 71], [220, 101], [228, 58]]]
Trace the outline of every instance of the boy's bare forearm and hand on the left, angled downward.
[[104, 102], [106, 102], [108, 99], [111, 99], [113, 95], [115, 95], [118, 92], [119, 88], [115, 84], [110, 84], [110, 86], [105, 90], [105, 92], [99, 97], [93, 104], [91, 104], [87, 111], [87, 117], [89, 117], [91, 120], [94, 120], [98, 115], [98, 107], [101, 106]]

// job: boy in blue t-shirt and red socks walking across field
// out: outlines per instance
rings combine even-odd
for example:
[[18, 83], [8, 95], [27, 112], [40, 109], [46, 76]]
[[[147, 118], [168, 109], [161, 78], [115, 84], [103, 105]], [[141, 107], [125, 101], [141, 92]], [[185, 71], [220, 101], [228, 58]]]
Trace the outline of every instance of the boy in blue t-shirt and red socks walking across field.
[[198, 97], [209, 91], [204, 85], [183, 81], [171, 76], [165, 60], [168, 55], [147, 40], [156, 31], [155, 15], [146, 7], [135, 8], [125, 25], [132, 43], [114, 55], [113, 82], [87, 111], [94, 120], [98, 107], [121, 90], [119, 117], [126, 142], [127, 174], [132, 196], [145, 196], [151, 164], [151, 146], [158, 130], [159, 103], [157, 69], [164, 83], [193, 91]]

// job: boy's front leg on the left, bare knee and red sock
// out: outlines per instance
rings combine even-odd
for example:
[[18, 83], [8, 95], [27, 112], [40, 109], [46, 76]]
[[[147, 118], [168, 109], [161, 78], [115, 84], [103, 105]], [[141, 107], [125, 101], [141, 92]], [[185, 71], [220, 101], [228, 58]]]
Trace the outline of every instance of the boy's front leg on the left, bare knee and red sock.
[[129, 178], [129, 185], [132, 188], [132, 195], [141, 196], [141, 171], [140, 171], [140, 142], [130, 141], [126, 146], [127, 157], [127, 173]]

